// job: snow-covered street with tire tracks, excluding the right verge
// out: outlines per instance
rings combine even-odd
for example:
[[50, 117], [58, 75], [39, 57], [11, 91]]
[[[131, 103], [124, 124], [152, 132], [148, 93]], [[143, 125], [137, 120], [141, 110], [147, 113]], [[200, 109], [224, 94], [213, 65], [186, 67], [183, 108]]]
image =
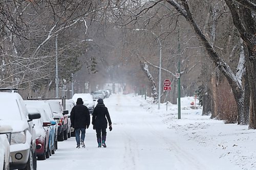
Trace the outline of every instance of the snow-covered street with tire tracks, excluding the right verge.
[[107, 148], [97, 148], [96, 133], [90, 126], [86, 131], [86, 149], [75, 148], [75, 137], [58, 142], [54, 155], [37, 161], [38, 170], [50, 167], [220, 170], [229, 167], [227, 162], [199, 148], [195, 141], [184, 140], [175, 130], [168, 129], [163, 117], [148, 113], [131, 95], [111, 95], [104, 103], [113, 123], [113, 131], [107, 130]]

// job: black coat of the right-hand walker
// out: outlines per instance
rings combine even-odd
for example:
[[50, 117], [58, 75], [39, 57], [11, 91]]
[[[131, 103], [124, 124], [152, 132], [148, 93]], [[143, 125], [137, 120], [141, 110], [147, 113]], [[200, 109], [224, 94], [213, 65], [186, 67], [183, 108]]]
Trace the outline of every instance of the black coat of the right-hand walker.
[[108, 108], [106, 108], [104, 104], [97, 104], [93, 110], [92, 118], [92, 124], [95, 129], [106, 129], [108, 126], [106, 119], [108, 119], [109, 125], [111, 125], [112, 123]]

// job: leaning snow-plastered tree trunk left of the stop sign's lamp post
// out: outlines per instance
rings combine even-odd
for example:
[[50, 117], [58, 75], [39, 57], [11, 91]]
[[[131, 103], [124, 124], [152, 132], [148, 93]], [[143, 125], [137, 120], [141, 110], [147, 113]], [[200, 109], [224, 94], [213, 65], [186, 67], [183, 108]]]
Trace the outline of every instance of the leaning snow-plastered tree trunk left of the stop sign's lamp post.
[[141, 65], [142, 70], [145, 72], [148, 80], [151, 82], [152, 96], [154, 98], [154, 103], [157, 103], [159, 94], [157, 93], [156, 82], [155, 82], [153, 76], [151, 75], [150, 70], [148, 69], [147, 63], [140, 62], [140, 65]]

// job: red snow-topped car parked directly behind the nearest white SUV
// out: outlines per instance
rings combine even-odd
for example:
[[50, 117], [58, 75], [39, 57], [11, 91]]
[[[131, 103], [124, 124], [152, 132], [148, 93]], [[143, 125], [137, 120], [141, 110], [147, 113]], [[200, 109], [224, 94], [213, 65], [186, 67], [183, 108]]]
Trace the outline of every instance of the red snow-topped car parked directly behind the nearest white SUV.
[[[50, 134], [51, 125], [56, 125], [55, 121], [48, 121], [45, 110], [42, 108], [27, 107], [29, 113], [33, 114], [39, 112], [40, 119], [34, 119], [34, 129], [36, 131], [36, 154], [37, 160], [45, 160], [51, 156], [52, 147], [54, 147], [54, 138]], [[53, 144], [52, 144], [53, 143]]]

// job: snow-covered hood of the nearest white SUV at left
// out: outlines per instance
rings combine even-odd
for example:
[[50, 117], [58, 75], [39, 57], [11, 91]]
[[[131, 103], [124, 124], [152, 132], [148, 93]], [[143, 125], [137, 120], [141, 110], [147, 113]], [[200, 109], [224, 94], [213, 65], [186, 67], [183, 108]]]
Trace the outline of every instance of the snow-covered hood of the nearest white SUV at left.
[[0, 120], [0, 125], [11, 126], [12, 133], [22, 132], [29, 127], [28, 122], [23, 120]]

